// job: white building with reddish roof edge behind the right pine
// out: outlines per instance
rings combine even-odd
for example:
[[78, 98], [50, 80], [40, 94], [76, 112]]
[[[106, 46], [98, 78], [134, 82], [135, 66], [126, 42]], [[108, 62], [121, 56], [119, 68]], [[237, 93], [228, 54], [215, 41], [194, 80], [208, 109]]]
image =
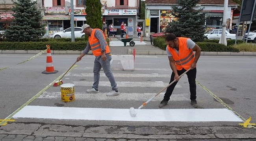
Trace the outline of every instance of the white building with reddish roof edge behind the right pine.
[[[176, 20], [170, 14], [171, 5], [177, 5], [176, 0], [162, 0], [161, 2], [155, 0], [146, 0], [145, 10], [145, 36], [149, 34], [163, 32], [168, 23]], [[227, 28], [232, 26], [233, 10], [238, 5], [232, 1], [228, 3], [227, 12]], [[206, 27], [207, 28], [221, 28], [223, 23], [224, 0], [204, 0], [199, 2], [194, 9], [204, 8], [207, 13]], [[148, 33], [148, 34], [147, 34]]]

